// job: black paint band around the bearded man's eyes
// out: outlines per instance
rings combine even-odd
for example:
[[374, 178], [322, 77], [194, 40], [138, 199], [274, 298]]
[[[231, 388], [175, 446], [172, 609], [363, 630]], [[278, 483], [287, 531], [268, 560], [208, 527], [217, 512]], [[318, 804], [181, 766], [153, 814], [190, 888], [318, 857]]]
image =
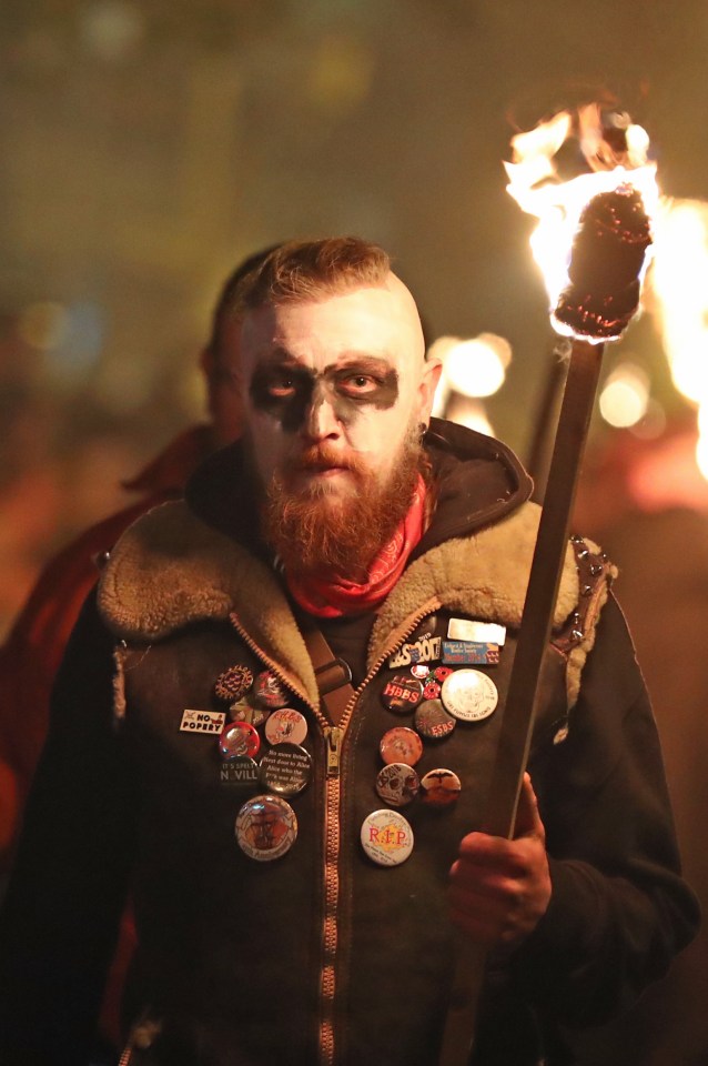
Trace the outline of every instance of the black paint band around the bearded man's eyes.
[[296, 433], [324, 402], [332, 404], [343, 425], [351, 424], [364, 406], [388, 410], [398, 399], [398, 374], [378, 359], [328, 366], [323, 374], [275, 362], [256, 369], [250, 392], [256, 408], [277, 419], [286, 432]]

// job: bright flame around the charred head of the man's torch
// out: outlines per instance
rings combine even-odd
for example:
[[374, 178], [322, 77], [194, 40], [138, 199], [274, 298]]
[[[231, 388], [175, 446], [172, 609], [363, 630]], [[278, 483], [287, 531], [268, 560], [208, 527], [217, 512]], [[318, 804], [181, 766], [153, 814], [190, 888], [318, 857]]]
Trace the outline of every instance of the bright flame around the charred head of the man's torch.
[[[566, 336], [579, 334], [559, 322], [554, 311], [570, 283], [573, 241], [586, 205], [599, 193], [631, 187], [640, 194], [649, 218], [657, 210], [656, 164], [647, 161], [649, 138], [628, 117], [619, 114], [615, 119], [615, 130], [608, 131], [597, 104], [579, 109], [575, 118], [562, 111], [512, 138], [513, 160], [504, 164], [509, 179], [507, 192], [523, 211], [539, 220], [530, 238], [532, 251], [548, 292], [553, 326]], [[562, 181], [555, 157], [574, 130], [590, 172]], [[640, 276], [648, 261], [649, 255], [645, 255]], [[599, 343], [603, 339], [584, 335], [584, 340]]]

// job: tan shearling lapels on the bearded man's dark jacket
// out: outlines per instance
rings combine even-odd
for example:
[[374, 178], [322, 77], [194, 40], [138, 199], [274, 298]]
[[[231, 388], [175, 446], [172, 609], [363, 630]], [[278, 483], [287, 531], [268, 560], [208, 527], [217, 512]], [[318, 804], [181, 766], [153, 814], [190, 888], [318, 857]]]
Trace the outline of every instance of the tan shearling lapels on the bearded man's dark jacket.
[[[418, 559], [384, 603], [374, 625], [368, 662], [403, 635], [422, 606], [441, 606], [518, 626], [539, 509], [524, 504], [474, 536], [449, 541]], [[568, 546], [554, 626], [578, 601], [578, 579]], [[282, 664], [311, 703], [317, 687], [290, 605], [267, 567], [212, 530], [184, 503], [165, 503], [123, 534], [99, 589], [99, 607], [127, 641], [156, 641], [189, 622], [225, 621], [235, 614], [245, 633]]]

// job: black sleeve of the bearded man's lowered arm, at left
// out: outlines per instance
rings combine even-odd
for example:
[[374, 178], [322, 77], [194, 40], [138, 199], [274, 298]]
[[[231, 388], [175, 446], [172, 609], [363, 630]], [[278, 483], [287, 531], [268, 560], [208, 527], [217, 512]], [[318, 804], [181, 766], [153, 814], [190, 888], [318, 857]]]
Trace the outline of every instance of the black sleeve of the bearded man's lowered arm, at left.
[[57, 678], [0, 916], [3, 1066], [89, 1059], [135, 826], [135, 785], [112, 716], [112, 653], [92, 595]]

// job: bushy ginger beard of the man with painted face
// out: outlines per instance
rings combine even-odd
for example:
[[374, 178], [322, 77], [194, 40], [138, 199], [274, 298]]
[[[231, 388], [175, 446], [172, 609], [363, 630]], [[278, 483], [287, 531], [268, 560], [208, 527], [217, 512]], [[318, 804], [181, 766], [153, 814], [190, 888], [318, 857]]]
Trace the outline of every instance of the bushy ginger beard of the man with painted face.
[[[303, 452], [297, 469], [342, 463], [341, 455], [325, 442]], [[401, 454], [383, 483], [356, 455], [347, 456], [346, 466], [355, 482], [355, 490], [346, 495], [332, 495], [326, 483], [297, 490], [287, 471], [273, 475], [266, 489], [262, 530], [287, 573], [366, 581], [370, 564], [408, 513], [418, 475], [427, 480], [428, 464], [417, 423], [409, 426]]]

